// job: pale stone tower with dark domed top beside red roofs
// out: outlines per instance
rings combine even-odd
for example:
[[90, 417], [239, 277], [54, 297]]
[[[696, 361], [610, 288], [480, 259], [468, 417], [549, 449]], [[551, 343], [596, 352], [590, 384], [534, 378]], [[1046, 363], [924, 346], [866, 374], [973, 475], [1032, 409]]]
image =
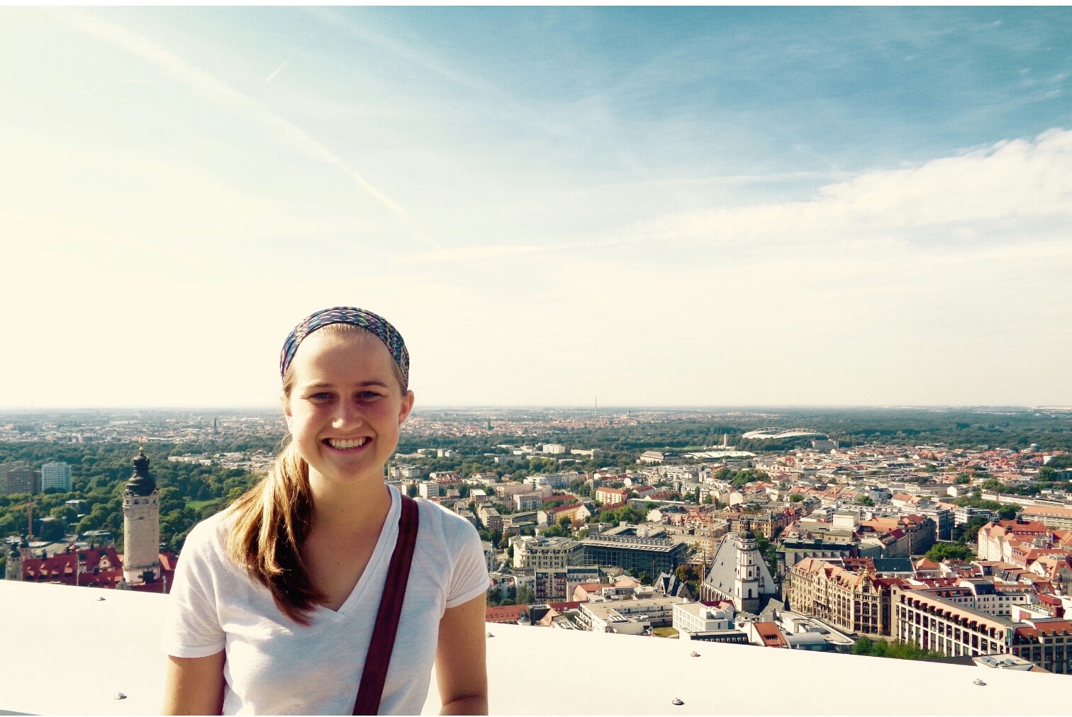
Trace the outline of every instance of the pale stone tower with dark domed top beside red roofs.
[[149, 459], [138, 449], [123, 493], [123, 580], [145, 582], [147, 571], [160, 577], [160, 491], [149, 475]]

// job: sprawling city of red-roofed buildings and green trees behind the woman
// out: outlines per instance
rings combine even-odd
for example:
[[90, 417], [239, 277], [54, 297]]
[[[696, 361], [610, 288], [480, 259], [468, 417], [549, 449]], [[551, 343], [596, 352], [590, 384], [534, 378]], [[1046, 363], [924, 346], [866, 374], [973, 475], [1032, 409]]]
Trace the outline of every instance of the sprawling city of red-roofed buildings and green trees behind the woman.
[[[0, 415], [5, 579], [166, 593], [282, 439], [271, 410]], [[385, 478], [480, 532], [489, 624], [1070, 674], [1070, 443], [1068, 408], [430, 408]]]

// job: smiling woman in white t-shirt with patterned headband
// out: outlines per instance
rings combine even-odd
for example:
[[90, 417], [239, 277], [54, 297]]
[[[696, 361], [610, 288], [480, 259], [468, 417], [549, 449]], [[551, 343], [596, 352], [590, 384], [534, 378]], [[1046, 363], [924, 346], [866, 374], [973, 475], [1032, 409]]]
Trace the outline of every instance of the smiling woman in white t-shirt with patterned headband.
[[433, 659], [442, 714], [487, 714], [479, 536], [384, 483], [413, 408], [408, 370], [402, 337], [361, 309], [317, 312], [287, 337], [291, 442], [187, 538], [164, 714], [418, 714]]

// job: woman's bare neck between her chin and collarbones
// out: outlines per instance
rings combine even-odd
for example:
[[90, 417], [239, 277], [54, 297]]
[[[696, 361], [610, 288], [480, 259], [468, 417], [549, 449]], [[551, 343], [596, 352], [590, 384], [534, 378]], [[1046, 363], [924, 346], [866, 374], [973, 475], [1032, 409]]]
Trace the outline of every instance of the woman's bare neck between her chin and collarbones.
[[313, 496], [312, 533], [329, 536], [378, 534], [391, 509], [391, 494], [382, 478], [338, 483], [310, 470]]

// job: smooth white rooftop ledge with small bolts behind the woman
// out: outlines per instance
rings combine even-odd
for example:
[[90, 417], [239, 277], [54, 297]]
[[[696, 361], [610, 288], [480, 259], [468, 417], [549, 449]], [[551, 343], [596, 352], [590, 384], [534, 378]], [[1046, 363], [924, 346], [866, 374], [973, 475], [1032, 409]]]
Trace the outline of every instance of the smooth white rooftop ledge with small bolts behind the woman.
[[[0, 714], [158, 714], [165, 600], [149, 593], [0, 581], [0, 604], [9, 616]], [[1066, 675], [982, 666], [549, 627], [492, 624], [488, 630], [494, 636], [488, 640], [492, 714], [1062, 714], [1064, 701], [1036, 698], [1064, 693], [1072, 685]], [[698, 657], [690, 656], [694, 651]], [[568, 668], [563, 655], [586, 659], [580, 669]], [[56, 689], [60, 663], [77, 670], [78, 690]], [[521, 663], [528, 668], [516, 669]], [[623, 675], [639, 664], [643, 681], [623, 686]], [[777, 675], [778, 689], [766, 688], [770, 675]], [[547, 689], [552, 683], [554, 689]], [[592, 689], [600, 684], [620, 687]], [[912, 696], [905, 685], [912, 686]], [[819, 686], [828, 699], [815, 699]], [[117, 700], [118, 692], [126, 699]], [[675, 698], [684, 704], [671, 704]], [[433, 678], [423, 714], [437, 713]]]

